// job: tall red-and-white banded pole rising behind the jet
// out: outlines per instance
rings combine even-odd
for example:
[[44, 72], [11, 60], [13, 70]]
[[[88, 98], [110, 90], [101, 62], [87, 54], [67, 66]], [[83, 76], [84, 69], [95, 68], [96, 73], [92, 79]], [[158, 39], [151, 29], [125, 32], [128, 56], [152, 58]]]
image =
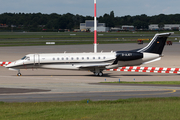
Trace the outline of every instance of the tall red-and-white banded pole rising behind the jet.
[[96, 19], [96, 0], [94, 0], [94, 53], [97, 53], [97, 19]]

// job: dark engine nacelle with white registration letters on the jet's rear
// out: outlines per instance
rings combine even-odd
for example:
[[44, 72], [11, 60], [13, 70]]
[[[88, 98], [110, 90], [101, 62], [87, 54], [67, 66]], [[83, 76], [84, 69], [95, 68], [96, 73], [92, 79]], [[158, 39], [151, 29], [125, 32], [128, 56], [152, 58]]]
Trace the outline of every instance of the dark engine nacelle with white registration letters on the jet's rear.
[[130, 61], [143, 58], [143, 53], [131, 52], [131, 51], [117, 51], [116, 60], [117, 61]]

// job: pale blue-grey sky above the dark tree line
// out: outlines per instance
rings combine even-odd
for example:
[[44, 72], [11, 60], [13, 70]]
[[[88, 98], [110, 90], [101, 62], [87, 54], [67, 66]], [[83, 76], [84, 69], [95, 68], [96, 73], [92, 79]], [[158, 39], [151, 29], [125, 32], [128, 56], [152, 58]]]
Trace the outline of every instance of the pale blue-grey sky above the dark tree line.
[[[94, 0], [0, 0], [0, 14], [57, 13], [94, 15]], [[180, 0], [97, 0], [97, 16], [114, 11], [115, 16], [180, 13]]]

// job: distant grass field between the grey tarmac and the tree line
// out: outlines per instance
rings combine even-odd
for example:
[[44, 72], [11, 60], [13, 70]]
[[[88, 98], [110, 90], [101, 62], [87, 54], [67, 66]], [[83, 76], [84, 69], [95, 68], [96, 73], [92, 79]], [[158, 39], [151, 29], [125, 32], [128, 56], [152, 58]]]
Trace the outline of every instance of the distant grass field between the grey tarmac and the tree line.
[[[137, 39], [152, 39], [157, 32], [110, 32], [98, 33], [100, 44], [137, 43]], [[180, 32], [176, 32], [176, 35]], [[0, 46], [46, 45], [53, 41], [56, 45], [93, 44], [94, 33], [86, 32], [0, 32]], [[174, 37], [169, 38], [174, 40]], [[145, 41], [149, 42], [149, 41]]]

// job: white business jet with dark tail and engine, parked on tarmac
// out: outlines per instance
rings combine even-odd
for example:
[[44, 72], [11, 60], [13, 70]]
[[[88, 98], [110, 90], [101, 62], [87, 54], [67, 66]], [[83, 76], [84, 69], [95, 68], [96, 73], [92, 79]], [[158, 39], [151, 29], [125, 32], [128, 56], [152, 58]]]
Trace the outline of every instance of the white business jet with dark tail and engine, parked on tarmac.
[[47, 53], [28, 54], [22, 59], [6, 65], [9, 70], [54, 69], [87, 70], [96, 76], [103, 76], [103, 70], [123, 66], [137, 66], [160, 60], [167, 38], [173, 33], [155, 34], [150, 43], [141, 49], [130, 51], [97, 53]]

